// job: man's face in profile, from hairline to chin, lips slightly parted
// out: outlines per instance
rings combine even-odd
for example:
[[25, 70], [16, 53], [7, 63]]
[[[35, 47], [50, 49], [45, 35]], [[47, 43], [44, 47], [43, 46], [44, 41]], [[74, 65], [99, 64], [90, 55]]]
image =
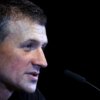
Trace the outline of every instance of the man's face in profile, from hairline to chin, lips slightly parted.
[[9, 21], [6, 32], [0, 43], [0, 83], [34, 92], [40, 68], [47, 66], [45, 27], [29, 20]]

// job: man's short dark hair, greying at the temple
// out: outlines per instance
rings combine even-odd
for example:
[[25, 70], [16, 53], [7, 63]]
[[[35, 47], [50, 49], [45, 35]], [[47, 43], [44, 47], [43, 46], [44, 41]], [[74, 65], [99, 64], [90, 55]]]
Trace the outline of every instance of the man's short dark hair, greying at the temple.
[[43, 10], [31, 1], [0, 0], [0, 42], [7, 36], [4, 32], [4, 26], [7, 25], [7, 22], [24, 17], [30, 18], [40, 25], [45, 25], [47, 21]]

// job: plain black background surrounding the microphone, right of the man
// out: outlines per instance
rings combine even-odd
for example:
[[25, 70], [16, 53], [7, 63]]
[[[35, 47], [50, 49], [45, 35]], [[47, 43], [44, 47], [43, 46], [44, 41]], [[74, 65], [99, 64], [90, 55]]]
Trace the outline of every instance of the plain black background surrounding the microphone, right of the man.
[[[48, 18], [45, 49], [48, 68], [41, 70], [38, 86], [47, 100], [100, 98], [96, 89], [68, 78], [68, 69], [100, 88], [98, 3], [31, 0]], [[69, 98], [69, 99], [68, 99]]]

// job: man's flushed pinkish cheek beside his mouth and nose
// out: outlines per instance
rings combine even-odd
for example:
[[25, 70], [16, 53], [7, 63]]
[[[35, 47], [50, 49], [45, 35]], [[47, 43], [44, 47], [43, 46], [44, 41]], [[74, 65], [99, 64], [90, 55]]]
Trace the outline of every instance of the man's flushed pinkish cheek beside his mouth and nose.
[[16, 79], [23, 75], [30, 64], [30, 58], [20, 52], [0, 55], [0, 74]]

